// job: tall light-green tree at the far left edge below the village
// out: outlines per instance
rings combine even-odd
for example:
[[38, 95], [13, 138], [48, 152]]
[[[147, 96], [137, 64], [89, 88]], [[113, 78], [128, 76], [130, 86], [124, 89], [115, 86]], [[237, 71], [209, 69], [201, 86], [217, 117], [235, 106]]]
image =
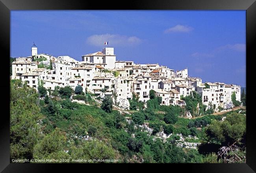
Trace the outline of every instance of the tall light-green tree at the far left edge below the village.
[[20, 80], [10, 82], [10, 160], [33, 156], [40, 137], [37, 122], [42, 118], [37, 100], [35, 89]]

